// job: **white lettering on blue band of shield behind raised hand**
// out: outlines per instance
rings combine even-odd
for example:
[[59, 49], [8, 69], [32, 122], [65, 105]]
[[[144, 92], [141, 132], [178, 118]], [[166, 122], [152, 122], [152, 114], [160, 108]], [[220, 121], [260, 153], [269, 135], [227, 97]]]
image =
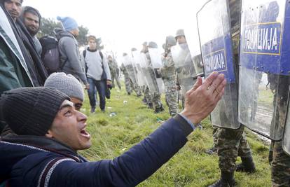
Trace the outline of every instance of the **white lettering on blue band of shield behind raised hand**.
[[205, 72], [221, 71], [226, 68], [223, 53], [209, 55], [205, 58]]

